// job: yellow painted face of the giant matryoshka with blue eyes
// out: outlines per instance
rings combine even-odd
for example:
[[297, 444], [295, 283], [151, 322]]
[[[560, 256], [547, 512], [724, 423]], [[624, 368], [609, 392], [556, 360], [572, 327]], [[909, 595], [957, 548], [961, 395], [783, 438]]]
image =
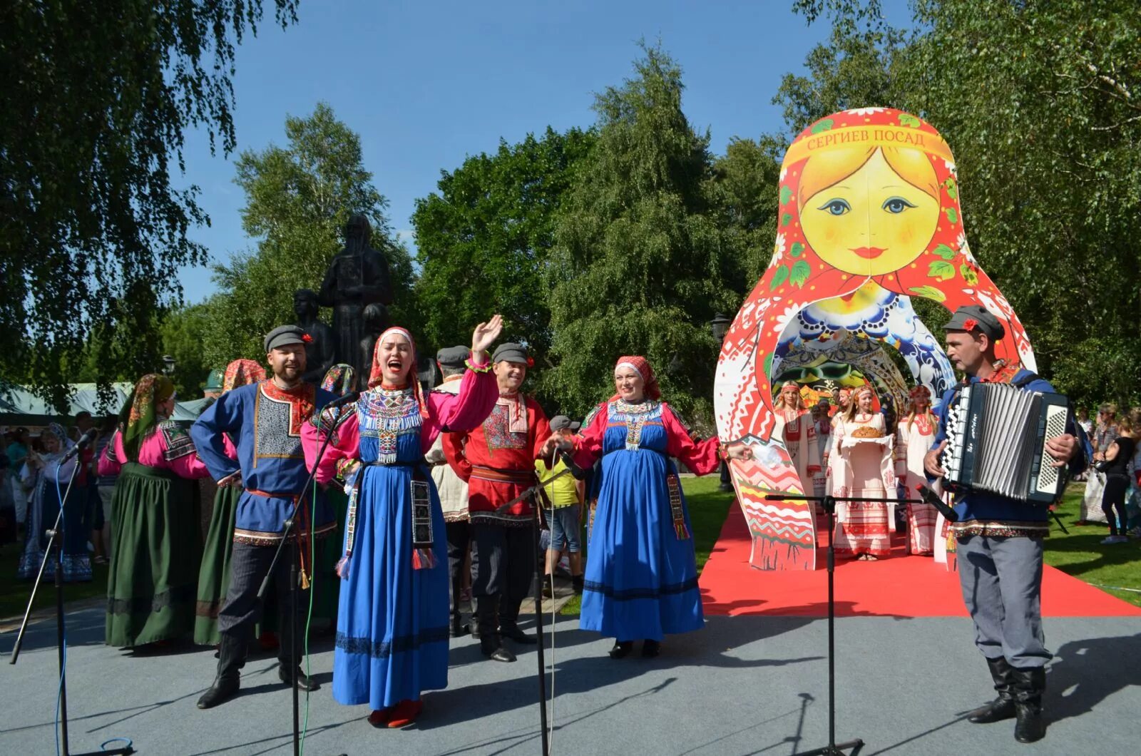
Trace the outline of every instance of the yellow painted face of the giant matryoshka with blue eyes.
[[[820, 259], [848, 273], [898, 271], [923, 252], [939, 223], [938, 185], [926, 158], [917, 150], [887, 147], [890, 156], [884, 150], [876, 147], [855, 172], [810, 196], [802, 193], [804, 238]], [[840, 150], [812, 156], [804, 167], [804, 185], [811, 191], [814, 172], [842, 172], [843, 163], [855, 162], [858, 154]]]

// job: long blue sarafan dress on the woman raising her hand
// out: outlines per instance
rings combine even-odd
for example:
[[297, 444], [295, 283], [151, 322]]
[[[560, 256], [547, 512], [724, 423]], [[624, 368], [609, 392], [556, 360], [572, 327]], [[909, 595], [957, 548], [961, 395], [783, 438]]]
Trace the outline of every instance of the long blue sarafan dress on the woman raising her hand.
[[[358, 457], [366, 466], [356, 481], [351, 533], [346, 529], [346, 542], [354, 540], [333, 652], [333, 698], [375, 710], [447, 686], [450, 611], [443, 560], [413, 568], [411, 485], [418, 468], [428, 483], [432, 552], [447, 553], [439, 496], [423, 465], [419, 410], [408, 394], [400, 418], [389, 402], [386, 423], [383, 410], [375, 411], [381, 400], [380, 392], [367, 392], [357, 403]], [[391, 444], [393, 434], [396, 461], [385, 464], [381, 445]]]

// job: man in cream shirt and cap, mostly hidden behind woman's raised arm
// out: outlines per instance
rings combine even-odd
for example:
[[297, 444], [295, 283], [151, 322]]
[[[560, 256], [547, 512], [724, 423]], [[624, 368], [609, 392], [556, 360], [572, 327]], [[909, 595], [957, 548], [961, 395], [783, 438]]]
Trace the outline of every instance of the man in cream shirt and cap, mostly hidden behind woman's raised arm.
[[[471, 353], [466, 346], [450, 346], [436, 353], [436, 362], [444, 376], [444, 383], [436, 391], [448, 394], [460, 393], [460, 383], [467, 370], [464, 362]], [[439, 504], [444, 509], [444, 529], [447, 533], [447, 569], [452, 577], [452, 637], [463, 635], [466, 629], [460, 614], [460, 593], [463, 590], [463, 568], [468, 561], [470, 546], [470, 517], [468, 516], [468, 482], [455, 474], [444, 455], [444, 436], [439, 434], [424, 460], [431, 465], [431, 477], [439, 492]], [[470, 574], [470, 570], [469, 570]]]

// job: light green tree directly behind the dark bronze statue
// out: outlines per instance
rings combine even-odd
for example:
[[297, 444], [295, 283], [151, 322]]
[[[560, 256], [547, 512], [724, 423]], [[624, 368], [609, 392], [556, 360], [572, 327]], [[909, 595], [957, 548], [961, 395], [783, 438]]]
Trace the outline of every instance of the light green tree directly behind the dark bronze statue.
[[356, 212], [369, 218], [371, 243], [388, 258], [393, 319], [410, 322], [412, 263], [391, 239], [388, 201], [364, 168], [359, 136], [323, 103], [307, 118], [286, 118], [285, 136], [285, 146], [245, 151], [237, 160], [234, 180], [246, 195], [242, 227], [257, 249], [215, 268], [219, 293], [208, 305], [208, 365], [265, 357], [262, 336], [296, 320], [293, 292], [321, 287], [343, 246], [345, 224]]

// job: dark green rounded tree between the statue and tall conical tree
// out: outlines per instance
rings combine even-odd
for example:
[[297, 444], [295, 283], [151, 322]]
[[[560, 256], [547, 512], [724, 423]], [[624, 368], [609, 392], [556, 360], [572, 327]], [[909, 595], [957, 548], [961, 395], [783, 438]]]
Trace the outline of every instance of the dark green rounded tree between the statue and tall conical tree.
[[555, 217], [592, 143], [589, 131], [550, 128], [539, 139], [501, 142], [494, 154], [443, 171], [439, 191], [416, 200], [416, 301], [429, 344], [468, 344], [472, 325], [500, 312], [504, 338], [526, 341], [540, 370], [547, 364]]

